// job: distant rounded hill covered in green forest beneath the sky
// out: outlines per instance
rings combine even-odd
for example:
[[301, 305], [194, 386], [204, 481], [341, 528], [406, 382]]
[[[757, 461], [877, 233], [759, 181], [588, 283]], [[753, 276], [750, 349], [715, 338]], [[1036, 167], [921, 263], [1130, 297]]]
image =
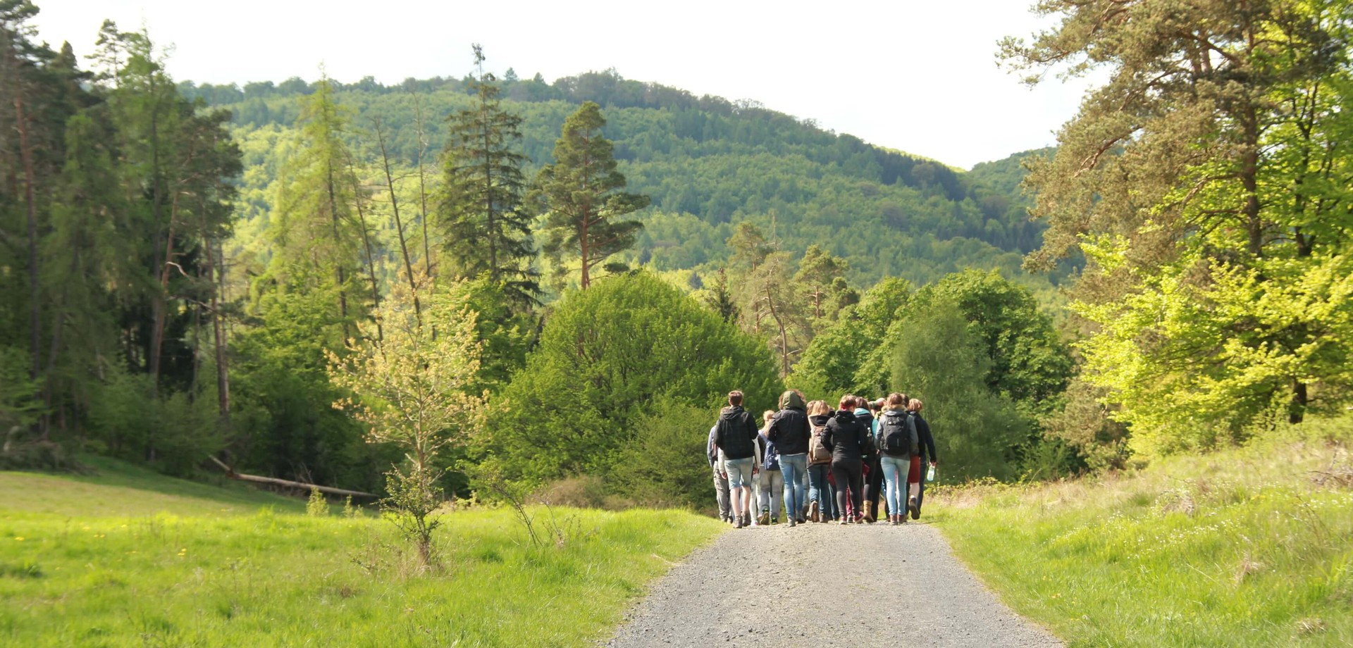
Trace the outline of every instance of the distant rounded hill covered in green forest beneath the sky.
[[[406, 80], [380, 85], [364, 78], [334, 84], [352, 110], [350, 134], [371, 156], [375, 120], [392, 153], [411, 166], [423, 124], [425, 162], [436, 168], [445, 142], [444, 118], [471, 106], [472, 78]], [[602, 106], [605, 135], [616, 143], [629, 191], [647, 193], [645, 229], [624, 261], [659, 271], [709, 271], [728, 256], [733, 225], [751, 221], [779, 245], [801, 254], [810, 244], [850, 261], [848, 277], [867, 285], [884, 276], [928, 283], [969, 267], [1022, 271], [1022, 254], [1040, 242], [1012, 183], [978, 181], [943, 164], [836, 134], [754, 101], [714, 96], [593, 72], [547, 84], [509, 70], [499, 81], [505, 106], [524, 118], [526, 177], [549, 161], [564, 118], [582, 101]], [[245, 150], [248, 235], [267, 222], [277, 169], [295, 134], [299, 99], [315, 83], [180, 84], [188, 97], [229, 108]], [[925, 124], [916, 124], [924, 129]], [[1017, 172], [1017, 164], [1011, 162]], [[430, 173], [436, 177], [436, 173]], [[1017, 184], [1017, 179], [1016, 183]], [[258, 216], [264, 216], [260, 222]], [[1042, 283], [1043, 279], [1035, 279]]]

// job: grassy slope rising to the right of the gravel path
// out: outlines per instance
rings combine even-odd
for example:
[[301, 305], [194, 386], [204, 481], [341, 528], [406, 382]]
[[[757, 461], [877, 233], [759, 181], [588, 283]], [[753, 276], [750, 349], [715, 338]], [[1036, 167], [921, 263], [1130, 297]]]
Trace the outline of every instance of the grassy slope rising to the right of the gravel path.
[[1353, 645], [1348, 419], [1128, 476], [936, 498], [955, 552], [1072, 647]]

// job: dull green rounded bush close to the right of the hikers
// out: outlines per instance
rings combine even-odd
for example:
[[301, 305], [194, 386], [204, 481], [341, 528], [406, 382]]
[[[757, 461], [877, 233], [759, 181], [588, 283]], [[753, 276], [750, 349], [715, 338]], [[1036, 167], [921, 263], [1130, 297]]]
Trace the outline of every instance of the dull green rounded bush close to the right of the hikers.
[[1030, 421], [986, 384], [992, 360], [957, 303], [936, 300], [909, 313], [892, 348], [892, 391], [920, 398], [946, 479], [1015, 473], [1013, 449]]

